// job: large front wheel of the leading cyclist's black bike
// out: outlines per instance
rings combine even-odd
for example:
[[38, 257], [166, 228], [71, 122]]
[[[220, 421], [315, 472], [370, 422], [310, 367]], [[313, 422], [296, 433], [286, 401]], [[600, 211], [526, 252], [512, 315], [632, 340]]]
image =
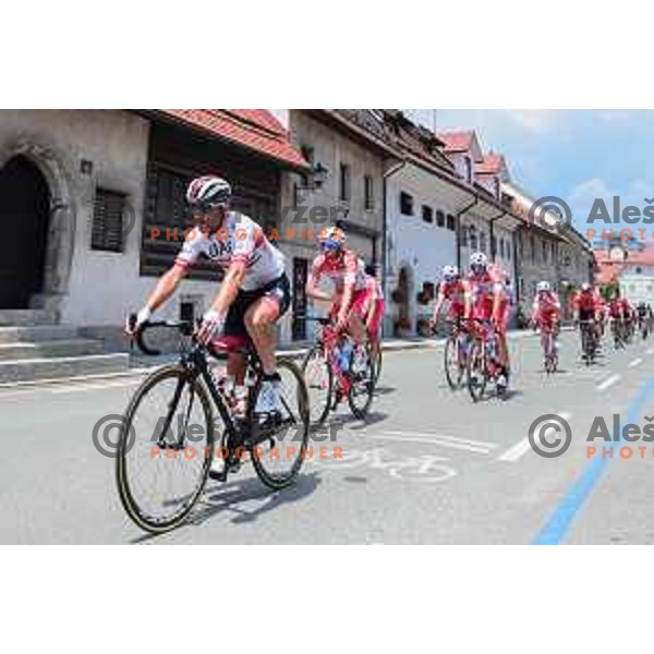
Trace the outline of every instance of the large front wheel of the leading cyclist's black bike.
[[214, 456], [211, 403], [173, 364], [138, 387], [124, 415], [116, 479], [128, 516], [150, 533], [179, 526], [202, 494]]

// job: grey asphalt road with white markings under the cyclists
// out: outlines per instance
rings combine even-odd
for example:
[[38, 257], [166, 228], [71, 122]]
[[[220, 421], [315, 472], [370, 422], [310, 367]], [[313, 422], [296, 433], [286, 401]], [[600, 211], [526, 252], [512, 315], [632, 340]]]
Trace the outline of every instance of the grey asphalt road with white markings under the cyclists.
[[[561, 337], [560, 372], [546, 377], [533, 336], [511, 341], [512, 388], [473, 404], [451, 392], [441, 349], [389, 352], [367, 424], [346, 409], [342, 459], [307, 461], [294, 486], [271, 493], [250, 465], [210, 481], [194, 520], [152, 537], [124, 514], [113, 460], [90, 434], [122, 413], [138, 378], [0, 390], [0, 542], [257, 544], [524, 544], [654, 542], [652, 445], [644, 455], [589, 458], [595, 416], [645, 424], [654, 415], [654, 340], [586, 367]], [[652, 396], [650, 398], [650, 395]], [[569, 421], [570, 448], [536, 455], [532, 422]], [[603, 443], [596, 443], [602, 450]], [[644, 457], [644, 458], [640, 458]]]

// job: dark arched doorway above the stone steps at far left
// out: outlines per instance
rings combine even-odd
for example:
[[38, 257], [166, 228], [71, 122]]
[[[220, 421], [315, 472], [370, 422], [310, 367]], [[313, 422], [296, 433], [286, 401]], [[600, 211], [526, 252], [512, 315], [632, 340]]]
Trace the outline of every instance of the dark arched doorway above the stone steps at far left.
[[26, 157], [0, 169], [0, 308], [27, 308], [44, 286], [50, 191]]

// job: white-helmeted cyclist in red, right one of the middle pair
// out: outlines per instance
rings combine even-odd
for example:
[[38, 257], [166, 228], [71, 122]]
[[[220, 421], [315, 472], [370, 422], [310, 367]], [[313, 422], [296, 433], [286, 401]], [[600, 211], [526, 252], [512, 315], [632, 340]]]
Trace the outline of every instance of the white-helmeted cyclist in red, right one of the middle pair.
[[495, 266], [488, 266], [483, 252], [470, 256], [470, 275], [465, 280], [465, 319], [491, 320], [497, 336], [497, 359], [501, 373], [497, 386], [506, 387], [509, 375], [509, 351], [507, 347], [508, 300], [504, 277]]

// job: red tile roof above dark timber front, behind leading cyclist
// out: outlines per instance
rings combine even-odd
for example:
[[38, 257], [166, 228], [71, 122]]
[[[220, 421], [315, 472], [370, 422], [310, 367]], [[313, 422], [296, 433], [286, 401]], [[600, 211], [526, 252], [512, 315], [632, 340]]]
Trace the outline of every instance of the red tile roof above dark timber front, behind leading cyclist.
[[281, 123], [266, 109], [161, 109], [170, 118], [293, 168], [308, 168]]

